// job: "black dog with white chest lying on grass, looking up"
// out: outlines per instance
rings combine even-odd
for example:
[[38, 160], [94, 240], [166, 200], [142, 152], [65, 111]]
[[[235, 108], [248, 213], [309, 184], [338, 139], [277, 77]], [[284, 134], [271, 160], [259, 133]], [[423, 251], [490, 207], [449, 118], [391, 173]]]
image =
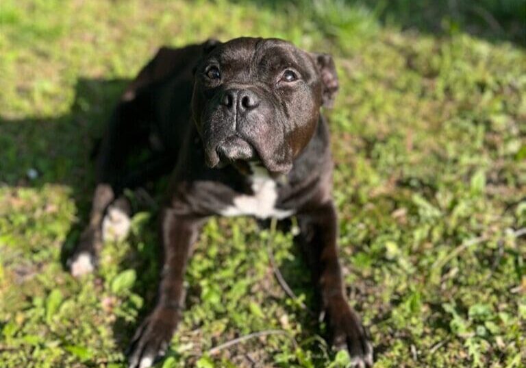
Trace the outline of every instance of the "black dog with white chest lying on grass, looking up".
[[[75, 276], [92, 271], [105, 238], [124, 236], [123, 188], [171, 173], [158, 301], [133, 338], [129, 367], [149, 367], [164, 354], [181, 318], [192, 244], [214, 215], [297, 217], [332, 342], [349, 350], [355, 367], [373, 365], [336, 249], [333, 164], [320, 108], [331, 106], [337, 90], [330, 56], [274, 38], [162, 48], [128, 86], [101, 143], [90, 222], [69, 267]], [[127, 164], [140, 149], [149, 158]]]

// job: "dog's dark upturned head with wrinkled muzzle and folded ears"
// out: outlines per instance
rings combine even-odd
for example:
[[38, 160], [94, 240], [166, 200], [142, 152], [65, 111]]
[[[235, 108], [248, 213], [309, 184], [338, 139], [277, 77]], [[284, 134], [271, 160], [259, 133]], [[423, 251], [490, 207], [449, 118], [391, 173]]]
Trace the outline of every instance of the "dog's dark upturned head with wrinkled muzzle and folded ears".
[[286, 173], [337, 90], [328, 55], [275, 38], [205, 42], [192, 116], [208, 166], [259, 160], [272, 173]]

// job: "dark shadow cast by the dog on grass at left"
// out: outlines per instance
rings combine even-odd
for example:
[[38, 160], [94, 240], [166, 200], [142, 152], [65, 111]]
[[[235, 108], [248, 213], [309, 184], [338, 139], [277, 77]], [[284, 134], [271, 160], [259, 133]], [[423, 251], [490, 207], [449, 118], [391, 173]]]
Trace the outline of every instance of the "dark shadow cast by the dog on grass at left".
[[[64, 269], [88, 221], [95, 189], [97, 145], [128, 82], [126, 79], [79, 79], [71, 113], [63, 116], [27, 119], [0, 116], [0, 185], [30, 188], [60, 185], [71, 191], [77, 221], [71, 225], [62, 244], [60, 262]], [[150, 222], [152, 231], [147, 236], [155, 237], [155, 224]], [[131, 243], [138, 241], [132, 239]], [[149, 243], [155, 243], [155, 240]], [[125, 256], [119, 265], [120, 269], [134, 268], [141, 275], [132, 292], [145, 298], [144, 310], [155, 298], [159, 267], [158, 247], [147, 248], [134, 249], [137, 254]], [[121, 319], [114, 323], [119, 348], [126, 347], [135, 328]]]

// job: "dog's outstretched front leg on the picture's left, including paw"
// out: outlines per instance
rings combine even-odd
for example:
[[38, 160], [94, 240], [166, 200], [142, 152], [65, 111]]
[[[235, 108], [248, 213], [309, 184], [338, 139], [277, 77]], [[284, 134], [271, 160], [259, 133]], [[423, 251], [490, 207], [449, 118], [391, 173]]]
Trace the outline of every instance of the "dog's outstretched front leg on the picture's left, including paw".
[[185, 290], [186, 263], [197, 240], [203, 217], [177, 214], [166, 209], [162, 214], [164, 264], [158, 301], [138, 328], [129, 347], [129, 367], [146, 368], [164, 355], [181, 318]]

